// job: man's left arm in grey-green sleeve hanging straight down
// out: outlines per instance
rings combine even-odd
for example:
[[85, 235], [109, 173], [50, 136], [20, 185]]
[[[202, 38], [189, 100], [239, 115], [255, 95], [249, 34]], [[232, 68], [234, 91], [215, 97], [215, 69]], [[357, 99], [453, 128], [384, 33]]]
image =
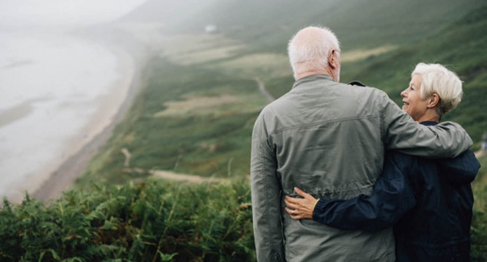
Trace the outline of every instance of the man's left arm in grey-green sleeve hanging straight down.
[[254, 124], [250, 164], [255, 247], [258, 261], [284, 261], [281, 186], [262, 115]]

